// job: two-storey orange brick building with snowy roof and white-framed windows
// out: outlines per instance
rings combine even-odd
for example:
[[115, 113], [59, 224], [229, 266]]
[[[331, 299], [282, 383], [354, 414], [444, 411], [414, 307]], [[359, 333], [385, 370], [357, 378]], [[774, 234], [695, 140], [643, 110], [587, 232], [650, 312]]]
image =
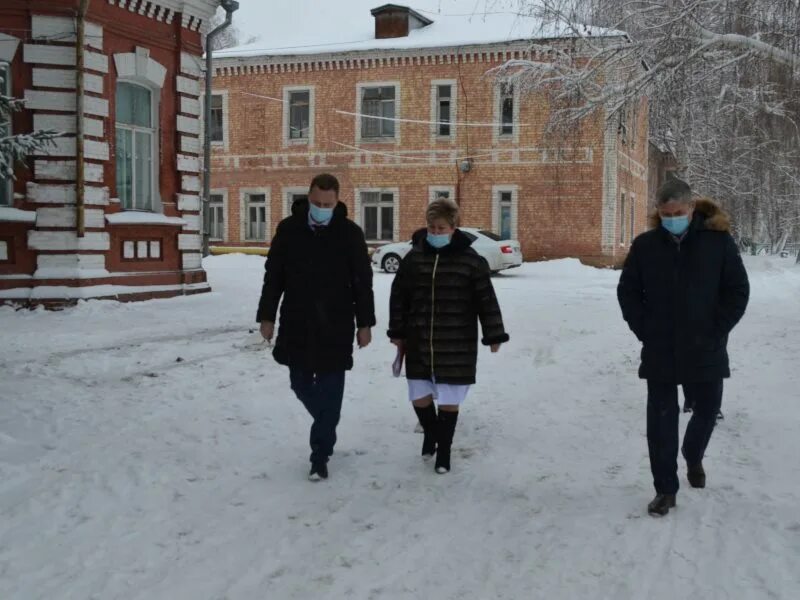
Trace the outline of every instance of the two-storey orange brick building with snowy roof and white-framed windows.
[[531, 57], [506, 21], [362, 12], [348, 18], [374, 19], [373, 39], [216, 54], [212, 244], [268, 243], [328, 171], [371, 243], [407, 239], [445, 194], [464, 225], [519, 239], [527, 260], [624, 257], [646, 223], [646, 99], [613, 123], [546, 135], [546, 98], [486, 75]]

